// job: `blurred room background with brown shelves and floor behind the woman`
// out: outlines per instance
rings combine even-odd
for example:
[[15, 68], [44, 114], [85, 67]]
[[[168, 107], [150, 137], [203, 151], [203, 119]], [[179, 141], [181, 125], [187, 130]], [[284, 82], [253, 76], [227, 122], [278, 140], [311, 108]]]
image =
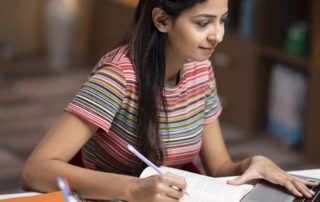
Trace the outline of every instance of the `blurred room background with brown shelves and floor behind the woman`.
[[[136, 0], [0, 1], [0, 194], [98, 59], [130, 30]], [[320, 167], [320, 1], [229, 0], [212, 57], [234, 160]], [[57, 148], [59, 149], [59, 148]]]

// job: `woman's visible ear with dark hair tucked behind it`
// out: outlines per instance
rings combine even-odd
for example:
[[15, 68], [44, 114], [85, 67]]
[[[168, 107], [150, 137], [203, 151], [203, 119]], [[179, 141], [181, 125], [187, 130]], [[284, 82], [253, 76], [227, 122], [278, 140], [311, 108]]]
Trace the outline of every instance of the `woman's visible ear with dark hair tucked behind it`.
[[170, 17], [161, 8], [152, 9], [152, 21], [159, 32], [168, 32], [171, 24]]

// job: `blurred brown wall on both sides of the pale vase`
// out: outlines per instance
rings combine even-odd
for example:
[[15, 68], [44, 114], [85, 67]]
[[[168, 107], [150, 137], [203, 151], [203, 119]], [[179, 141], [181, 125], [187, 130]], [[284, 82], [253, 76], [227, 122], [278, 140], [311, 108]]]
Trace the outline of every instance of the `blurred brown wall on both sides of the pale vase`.
[[[94, 3], [94, 0], [79, 0], [80, 15], [74, 47], [74, 54], [79, 57], [87, 55]], [[0, 1], [0, 51], [6, 46], [19, 56], [45, 53], [44, 6], [45, 0]]]

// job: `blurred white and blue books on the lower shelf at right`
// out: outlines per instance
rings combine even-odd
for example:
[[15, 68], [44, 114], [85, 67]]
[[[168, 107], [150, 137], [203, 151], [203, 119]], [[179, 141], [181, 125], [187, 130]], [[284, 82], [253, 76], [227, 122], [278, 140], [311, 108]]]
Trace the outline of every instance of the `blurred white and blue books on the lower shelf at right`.
[[271, 71], [268, 130], [287, 145], [303, 143], [307, 79], [290, 66], [274, 64]]

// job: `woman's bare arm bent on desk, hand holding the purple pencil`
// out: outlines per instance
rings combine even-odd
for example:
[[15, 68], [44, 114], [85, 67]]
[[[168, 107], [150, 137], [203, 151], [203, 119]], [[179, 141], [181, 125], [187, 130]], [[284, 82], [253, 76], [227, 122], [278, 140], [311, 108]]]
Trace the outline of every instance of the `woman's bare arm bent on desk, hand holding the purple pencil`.
[[25, 190], [50, 192], [57, 190], [56, 178], [67, 179], [81, 196], [91, 199], [177, 201], [182, 193], [170, 185], [185, 188], [176, 176], [153, 176], [146, 179], [104, 173], [68, 164], [69, 160], [95, 133], [97, 127], [65, 112], [47, 132], [25, 163], [21, 185]]

